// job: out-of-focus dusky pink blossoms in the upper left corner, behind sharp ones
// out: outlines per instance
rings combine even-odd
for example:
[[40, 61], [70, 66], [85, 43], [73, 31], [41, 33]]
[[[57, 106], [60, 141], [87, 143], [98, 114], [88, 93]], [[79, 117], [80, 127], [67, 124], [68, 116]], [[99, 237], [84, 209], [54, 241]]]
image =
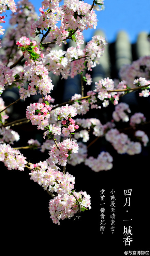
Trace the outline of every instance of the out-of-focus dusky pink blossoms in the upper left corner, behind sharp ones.
[[[4, 52], [0, 53], [1, 63], [10, 67], [20, 58], [21, 51], [17, 51], [15, 44], [22, 35], [28, 37], [31, 24], [37, 19], [34, 6], [28, 0], [17, 2], [17, 11], [11, 13], [9, 23], [11, 29], [8, 29], [2, 40]], [[16, 67], [14, 68], [16, 69]]]

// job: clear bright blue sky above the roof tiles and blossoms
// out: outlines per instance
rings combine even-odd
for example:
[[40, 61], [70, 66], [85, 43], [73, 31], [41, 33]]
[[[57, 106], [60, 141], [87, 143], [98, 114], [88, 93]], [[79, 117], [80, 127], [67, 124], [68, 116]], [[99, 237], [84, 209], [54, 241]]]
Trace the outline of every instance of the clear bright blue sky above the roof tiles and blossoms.
[[[41, 0], [30, 0], [35, 6], [36, 12], [39, 14]], [[92, 0], [87, 0], [92, 4]], [[125, 30], [129, 34], [132, 43], [136, 42], [137, 36], [141, 31], [150, 33], [150, 0], [105, 0], [105, 10], [96, 12], [99, 20], [97, 28], [105, 32], [108, 42], [115, 41], [118, 31]], [[6, 23], [4, 28], [8, 26], [9, 13], [5, 17]], [[94, 29], [84, 31], [86, 41], [93, 36]]]

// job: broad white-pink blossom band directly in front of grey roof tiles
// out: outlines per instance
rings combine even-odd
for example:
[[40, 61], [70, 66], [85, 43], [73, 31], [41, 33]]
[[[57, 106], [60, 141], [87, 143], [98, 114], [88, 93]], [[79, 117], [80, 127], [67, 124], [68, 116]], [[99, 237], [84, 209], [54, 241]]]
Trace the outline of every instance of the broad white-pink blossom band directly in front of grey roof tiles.
[[[43, 63], [54, 74], [61, 74], [64, 79], [67, 79], [68, 76], [73, 78], [85, 70], [85, 65], [88, 67], [88, 70], [91, 70], [96, 64], [100, 63], [100, 57], [104, 53], [106, 44], [103, 37], [95, 35], [83, 50], [76, 49], [73, 46], [67, 48], [66, 52], [61, 49], [57, 51], [47, 48], [47, 54], [43, 59]], [[48, 52], [49, 50], [51, 51]], [[89, 75], [87, 79], [90, 84], [91, 79]]]

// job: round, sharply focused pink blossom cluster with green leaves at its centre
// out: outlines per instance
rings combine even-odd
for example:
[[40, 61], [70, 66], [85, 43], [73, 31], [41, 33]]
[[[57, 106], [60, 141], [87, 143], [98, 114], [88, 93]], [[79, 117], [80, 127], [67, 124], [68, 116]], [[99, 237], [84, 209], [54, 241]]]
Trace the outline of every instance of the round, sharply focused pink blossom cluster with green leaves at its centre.
[[26, 116], [31, 120], [32, 125], [38, 125], [37, 129], [44, 130], [48, 126], [49, 111], [51, 107], [45, 103], [31, 103], [27, 106]]

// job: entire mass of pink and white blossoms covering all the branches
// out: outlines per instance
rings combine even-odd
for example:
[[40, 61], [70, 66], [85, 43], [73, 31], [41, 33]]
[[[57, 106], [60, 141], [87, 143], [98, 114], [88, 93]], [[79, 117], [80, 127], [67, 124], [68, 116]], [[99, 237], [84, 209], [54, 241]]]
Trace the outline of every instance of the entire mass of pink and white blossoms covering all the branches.
[[[95, 158], [88, 151], [102, 137], [118, 154], [140, 154], [147, 146], [149, 138], [142, 130], [146, 117], [140, 112], [131, 113], [130, 106], [120, 102], [120, 97], [134, 90], [139, 90], [139, 97], [150, 96], [150, 57], [141, 57], [132, 65], [122, 67], [118, 82], [110, 77], [95, 82], [94, 90], [89, 89], [84, 96], [84, 87], [89, 88], [93, 83], [89, 73], [101, 62], [107, 42], [102, 36], [94, 35], [81, 49], [84, 43], [82, 31], [96, 28], [95, 11], [104, 9], [104, 1], [88, 4], [64, 0], [61, 4], [58, 0], [44, 0], [41, 4], [37, 17], [28, 0], [21, 0], [17, 5], [14, 0], [0, 2], [0, 24], [5, 22], [2, 13], [10, 9], [10, 24], [14, 26], [0, 40], [3, 49], [0, 53], [0, 96], [10, 87], [15, 87], [19, 94], [19, 99], [8, 106], [0, 97], [0, 161], [8, 170], [30, 170], [30, 179], [51, 196], [50, 218], [60, 225], [60, 220], [76, 217], [81, 211], [91, 209], [90, 195], [86, 191], [74, 190], [75, 177], [66, 171], [66, 166], [82, 163], [94, 172], [111, 170], [113, 157], [109, 152], [94, 148]], [[4, 34], [1, 25], [0, 34]], [[76, 42], [76, 46], [66, 51], [52, 47], [55, 44], [61, 47], [68, 39]], [[54, 88], [50, 71], [53, 73], [51, 77], [61, 75], [61, 79], [80, 75], [81, 94], [75, 93], [68, 102], [55, 105], [55, 99], [50, 95]], [[26, 118], [9, 123], [9, 107], [19, 100], [26, 103], [27, 97], [37, 93], [40, 94], [39, 101], [26, 105]], [[101, 122], [100, 114], [97, 115], [100, 119], [81, 118], [93, 109], [99, 113], [107, 111], [110, 104], [114, 108], [106, 123]], [[28, 138], [27, 146], [17, 148], [15, 143], [20, 137], [11, 126], [26, 122], [37, 126], [41, 141]], [[122, 131], [118, 128], [122, 124], [133, 131], [131, 137], [127, 129]], [[47, 150], [48, 157], [31, 163], [31, 159], [27, 161], [18, 149], [37, 149], [41, 154]]]

